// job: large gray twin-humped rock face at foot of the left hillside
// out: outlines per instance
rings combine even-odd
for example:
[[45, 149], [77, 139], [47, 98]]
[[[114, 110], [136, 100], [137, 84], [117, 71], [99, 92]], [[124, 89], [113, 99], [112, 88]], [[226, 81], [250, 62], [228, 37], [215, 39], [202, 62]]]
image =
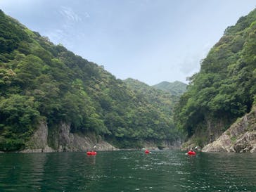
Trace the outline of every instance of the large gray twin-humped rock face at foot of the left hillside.
[[56, 148], [49, 147], [48, 142], [48, 126], [45, 122], [41, 122], [36, 132], [34, 132], [30, 141], [27, 142], [25, 150], [21, 153], [41, 153], [41, 152], [61, 152], [61, 151], [89, 151], [96, 145], [97, 151], [114, 151], [117, 150], [101, 139], [96, 139], [94, 134], [84, 136], [80, 134], [70, 133], [70, 124], [60, 123], [58, 133], [54, 137], [52, 143], [56, 144]]

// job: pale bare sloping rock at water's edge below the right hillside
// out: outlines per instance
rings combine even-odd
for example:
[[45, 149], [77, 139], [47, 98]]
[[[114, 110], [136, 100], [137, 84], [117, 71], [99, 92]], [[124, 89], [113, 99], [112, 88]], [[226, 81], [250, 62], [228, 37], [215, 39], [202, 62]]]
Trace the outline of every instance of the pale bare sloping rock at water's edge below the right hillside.
[[256, 107], [208, 144], [203, 152], [256, 152]]

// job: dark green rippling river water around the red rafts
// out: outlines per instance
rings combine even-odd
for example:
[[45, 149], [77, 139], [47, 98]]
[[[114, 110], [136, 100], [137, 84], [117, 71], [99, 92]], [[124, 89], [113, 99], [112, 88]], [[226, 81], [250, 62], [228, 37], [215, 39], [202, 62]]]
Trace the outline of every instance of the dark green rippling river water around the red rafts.
[[0, 191], [256, 191], [256, 154], [0, 154]]

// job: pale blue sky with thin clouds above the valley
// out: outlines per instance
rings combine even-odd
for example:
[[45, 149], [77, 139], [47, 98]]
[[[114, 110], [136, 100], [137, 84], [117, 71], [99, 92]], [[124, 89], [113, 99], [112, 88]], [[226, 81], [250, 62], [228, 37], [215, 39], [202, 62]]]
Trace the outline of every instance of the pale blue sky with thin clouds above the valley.
[[[115, 77], [186, 82], [255, 0], [0, 0], [7, 15]], [[188, 83], [188, 82], [186, 82]]]

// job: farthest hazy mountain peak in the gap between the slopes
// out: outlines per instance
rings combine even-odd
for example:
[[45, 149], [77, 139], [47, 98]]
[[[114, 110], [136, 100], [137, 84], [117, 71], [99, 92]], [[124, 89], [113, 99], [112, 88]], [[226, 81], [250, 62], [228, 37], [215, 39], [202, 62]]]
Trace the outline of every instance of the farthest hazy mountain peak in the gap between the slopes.
[[186, 92], [187, 84], [179, 81], [175, 82], [160, 82], [159, 84], [153, 85], [154, 88], [162, 91], [167, 91], [174, 96], [181, 96]]

